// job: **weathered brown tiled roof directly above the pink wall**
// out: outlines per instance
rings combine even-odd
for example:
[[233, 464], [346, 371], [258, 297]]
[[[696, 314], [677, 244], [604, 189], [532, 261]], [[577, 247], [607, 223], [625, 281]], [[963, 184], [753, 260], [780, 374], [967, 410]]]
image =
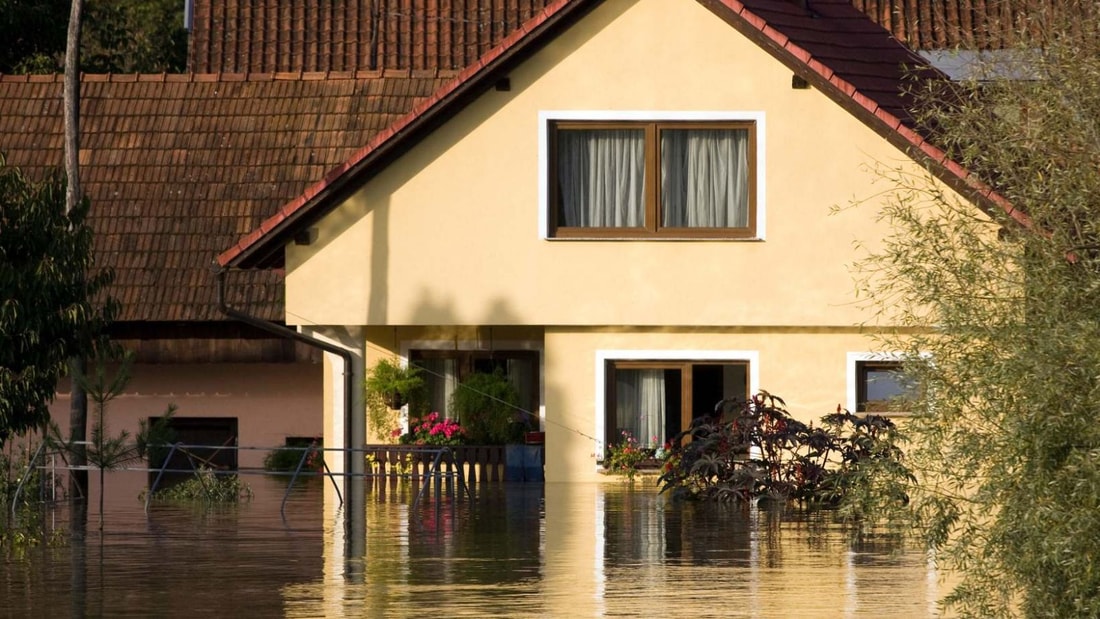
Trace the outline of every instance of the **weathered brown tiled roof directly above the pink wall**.
[[[212, 258], [453, 73], [84, 76], [81, 188], [122, 321], [227, 320]], [[0, 151], [61, 167], [62, 79], [0, 76]], [[283, 319], [278, 273], [241, 274], [237, 307]]]

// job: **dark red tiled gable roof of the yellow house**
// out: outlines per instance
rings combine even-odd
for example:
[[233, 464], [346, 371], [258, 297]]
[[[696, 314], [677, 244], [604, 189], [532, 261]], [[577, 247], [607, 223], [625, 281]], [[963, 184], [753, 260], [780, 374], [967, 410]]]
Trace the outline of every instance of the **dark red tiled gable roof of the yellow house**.
[[[905, 81], [915, 76], [943, 78], [943, 74], [867, 19], [849, 0], [697, 1], [893, 144], [931, 159], [948, 177], [954, 177], [957, 185], [977, 189], [988, 199], [999, 199], [928, 143], [908, 112]], [[218, 257], [219, 264], [238, 268], [280, 265], [283, 246], [296, 231], [334, 208], [346, 192], [386, 165], [391, 153], [403, 152], [429, 131], [436, 119], [453, 115], [472, 96], [493, 84], [508, 63], [518, 63], [544, 44], [557, 32], [543, 27], [546, 24], [561, 20], [571, 9], [596, 3], [559, 0], [550, 4], [520, 26], [516, 35], [490, 51], [476, 65], [375, 135], [351, 158], [224, 251]]]

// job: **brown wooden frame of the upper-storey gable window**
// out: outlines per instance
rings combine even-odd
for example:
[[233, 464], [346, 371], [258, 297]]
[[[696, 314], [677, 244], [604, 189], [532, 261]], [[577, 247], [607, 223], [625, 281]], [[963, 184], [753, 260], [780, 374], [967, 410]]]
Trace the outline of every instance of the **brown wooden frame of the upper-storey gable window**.
[[[550, 239], [640, 239], [640, 240], [755, 240], [757, 232], [758, 187], [757, 121], [755, 120], [550, 120], [548, 121], [547, 218]], [[646, 136], [646, 212], [640, 228], [564, 226], [559, 223], [558, 132], [560, 130], [641, 129]], [[732, 129], [748, 132], [748, 224], [745, 228], [667, 228], [660, 224], [660, 131], [689, 129]]]

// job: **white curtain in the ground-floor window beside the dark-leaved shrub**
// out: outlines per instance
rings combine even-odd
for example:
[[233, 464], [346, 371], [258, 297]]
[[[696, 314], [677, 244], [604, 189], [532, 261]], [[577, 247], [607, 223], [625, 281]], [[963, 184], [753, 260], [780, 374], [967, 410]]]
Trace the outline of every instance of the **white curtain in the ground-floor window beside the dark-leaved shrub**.
[[608, 440], [617, 443], [626, 431], [642, 446], [664, 443], [664, 371], [617, 369], [615, 376], [616, 429]]

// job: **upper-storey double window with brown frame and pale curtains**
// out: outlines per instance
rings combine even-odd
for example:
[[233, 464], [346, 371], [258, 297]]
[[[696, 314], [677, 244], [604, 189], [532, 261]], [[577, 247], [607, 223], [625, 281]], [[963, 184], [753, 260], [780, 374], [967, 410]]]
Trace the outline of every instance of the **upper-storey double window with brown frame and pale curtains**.
[[551, 121], [550, 234], [756, 236], [752, 121]]

